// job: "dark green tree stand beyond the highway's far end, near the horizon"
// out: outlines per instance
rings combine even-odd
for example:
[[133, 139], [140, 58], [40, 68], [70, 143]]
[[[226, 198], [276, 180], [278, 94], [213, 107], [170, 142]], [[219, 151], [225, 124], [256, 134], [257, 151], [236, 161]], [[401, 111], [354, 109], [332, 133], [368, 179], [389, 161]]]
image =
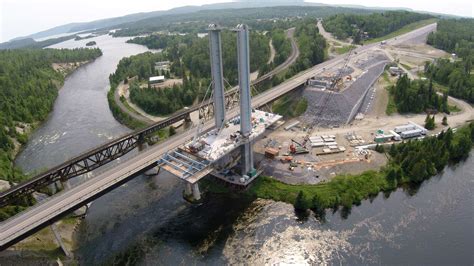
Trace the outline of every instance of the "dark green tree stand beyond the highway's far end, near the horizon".
[[369, 38], [382, 37], [405, 25], [432, 17], [408, 11], [386, 11], [370, 15], [337, 14], [324, 19], [323, 26], [338, 39], [352, 37], [358, 43], [363, 32], [367, 32]]

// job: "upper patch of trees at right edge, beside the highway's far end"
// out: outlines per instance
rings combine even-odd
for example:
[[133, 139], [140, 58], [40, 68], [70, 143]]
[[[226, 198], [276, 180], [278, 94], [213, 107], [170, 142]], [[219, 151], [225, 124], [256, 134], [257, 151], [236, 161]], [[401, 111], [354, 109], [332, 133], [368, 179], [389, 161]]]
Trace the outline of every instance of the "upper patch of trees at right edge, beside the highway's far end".
[[427, 43], [438, 49], [456, 53], [459, 57], [474, 54], [474, 19], [443, 19], [435, 32], [428, 35]]

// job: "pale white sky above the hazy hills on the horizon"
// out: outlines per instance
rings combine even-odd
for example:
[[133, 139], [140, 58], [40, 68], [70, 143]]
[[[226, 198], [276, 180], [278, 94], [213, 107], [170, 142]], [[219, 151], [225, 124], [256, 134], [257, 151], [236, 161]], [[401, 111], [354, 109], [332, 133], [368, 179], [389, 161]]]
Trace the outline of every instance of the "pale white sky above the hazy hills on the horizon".
[[[0, 0], [0, 42], [71, 22], [167, 10], [185, 5], [229, 0]], [[407, 7], [415, 10], [473, 17], [472, 0], [306, 0], [325, 4]]]

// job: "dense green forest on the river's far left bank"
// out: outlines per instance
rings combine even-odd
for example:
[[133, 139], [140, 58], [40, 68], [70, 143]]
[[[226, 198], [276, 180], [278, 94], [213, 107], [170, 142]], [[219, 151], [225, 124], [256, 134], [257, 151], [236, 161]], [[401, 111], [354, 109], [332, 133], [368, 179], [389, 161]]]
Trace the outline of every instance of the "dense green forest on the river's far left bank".
[[0, 51], [0, 179], [19, 182], [26, 176], [14, 168], [15, 143], [25, 144], [25, 125], [46, 119], [64, 76], [52, 63], [93, 60], [99, 49], [32, 49]]

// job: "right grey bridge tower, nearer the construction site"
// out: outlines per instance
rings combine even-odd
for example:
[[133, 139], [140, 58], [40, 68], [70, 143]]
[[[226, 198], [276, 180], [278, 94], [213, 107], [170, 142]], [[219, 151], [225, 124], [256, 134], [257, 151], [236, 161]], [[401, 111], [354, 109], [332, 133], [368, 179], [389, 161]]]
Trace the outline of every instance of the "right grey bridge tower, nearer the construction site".
[[241, 147], [242, 175], [254, 170], [253, 149], [249, 136], [252, 132], [252, 106], [250, 102], [250, 58], [249, 58], [249, 29], [247, 25], [239, 24], [237, 32], [237, 56], [239, 65], [240, 93], [240, 132], [245, 143]]

